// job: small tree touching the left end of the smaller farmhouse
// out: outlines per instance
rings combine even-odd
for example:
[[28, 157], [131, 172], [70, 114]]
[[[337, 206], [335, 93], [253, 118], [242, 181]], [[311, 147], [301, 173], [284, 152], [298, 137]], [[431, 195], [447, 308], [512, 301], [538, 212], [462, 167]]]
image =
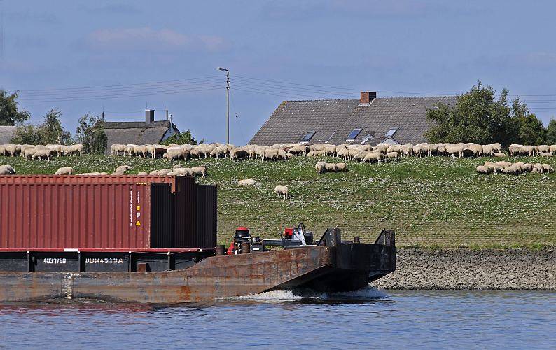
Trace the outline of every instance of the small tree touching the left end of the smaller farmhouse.
[[79, 144], [83, 144], [84, 153], [106, 153], [108, 137], [104, 132], [104, 120], [89, 113], [85, 114], [78, 120], [75, 139]]

